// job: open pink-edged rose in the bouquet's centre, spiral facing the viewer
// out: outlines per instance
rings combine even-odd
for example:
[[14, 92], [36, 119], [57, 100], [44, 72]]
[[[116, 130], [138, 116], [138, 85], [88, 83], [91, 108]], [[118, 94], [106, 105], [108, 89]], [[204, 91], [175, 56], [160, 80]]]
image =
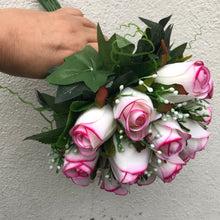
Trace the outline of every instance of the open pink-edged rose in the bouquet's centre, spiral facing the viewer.
[[121, 95], [119, 103], [113, 108], [114, 117], [123, 125], [131, 140], [139, 141], [146, 136], [149, 123], [156, 119], [152, 101], [146, 94], [131, 88], [125, 88]]

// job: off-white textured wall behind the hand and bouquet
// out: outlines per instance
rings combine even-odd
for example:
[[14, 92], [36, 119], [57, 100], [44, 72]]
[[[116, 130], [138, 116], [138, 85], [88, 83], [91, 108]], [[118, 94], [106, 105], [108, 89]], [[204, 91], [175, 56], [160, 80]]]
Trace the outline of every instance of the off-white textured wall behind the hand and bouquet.
[[[206, 150], [197, 154], [170, 184], [156, 181], [133, 186], [126, 197], [99, 189], [75, 186], [62, 174], [49, 170], [49, 146], [22, 141], [38, 133], [41, 117], [15, 96], [0, 90], [0, 219], [42, 220], [217, 220], [220, 219], [220, 3], [219, 0], [60, 0], [100, 22], [110, 36], [120, 24], [139, 23], [138, 16], [158, 21], [173, 15], [175, 45], [190, 41], [199, 28], [203, 34], [187, 54], [203, 60], [215, 83], [211, 101], [212, 136]], [[0, 0], [0, 8], [42, 10], [37, 0]], [[46, 92], [46, 83], [0, 74], [0, 84], [33, 101], [35, 89]]]

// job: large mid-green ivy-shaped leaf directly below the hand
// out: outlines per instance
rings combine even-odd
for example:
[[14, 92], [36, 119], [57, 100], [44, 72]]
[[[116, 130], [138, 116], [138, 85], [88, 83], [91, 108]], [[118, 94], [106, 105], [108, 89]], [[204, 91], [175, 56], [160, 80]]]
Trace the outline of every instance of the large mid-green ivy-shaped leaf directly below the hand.
[[63, 65], [46, 78], [46, 81], [57, 85], [70, 85], [76, 82], [85, 84], [96, 92], [106, 83], [113, 72], [103, 69], [100, 55], [91, 46], [72, 54], [65, 59]]

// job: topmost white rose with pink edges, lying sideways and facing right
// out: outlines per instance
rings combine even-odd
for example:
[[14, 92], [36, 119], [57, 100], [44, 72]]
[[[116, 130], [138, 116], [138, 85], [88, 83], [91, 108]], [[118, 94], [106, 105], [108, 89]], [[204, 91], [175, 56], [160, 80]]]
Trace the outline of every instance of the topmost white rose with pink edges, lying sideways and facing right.
[[170, 101], [182, 102], [212, 97], [213, 80], [209, 69], [202, 61], [167, 64], [158, 70], [157, 75], [156, 83], [180, 84], [188, 93], [188, 95], [168, 95], [166, 98]]

